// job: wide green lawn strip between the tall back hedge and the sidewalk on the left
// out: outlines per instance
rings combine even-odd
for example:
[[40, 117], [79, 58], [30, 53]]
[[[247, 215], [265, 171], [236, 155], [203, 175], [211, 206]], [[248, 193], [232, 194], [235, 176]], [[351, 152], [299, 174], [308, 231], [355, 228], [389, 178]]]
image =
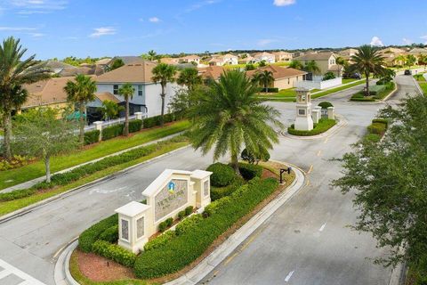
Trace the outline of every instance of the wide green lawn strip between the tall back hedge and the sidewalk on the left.
[[[93, 159], [99, 159], [117, 151], [124, 151], [145, 142], [151, 142], [167, 135], [179, 133], [186, 130], [188, 127], [189, 121], [184, 120], [169, 126], [143, 130], [129, 138], [117, 137], [106, 142], [97, 143], [93, 146], [89, 146], [89, 148], [84, 151], [76, 151], [72, 154], [53, 157], [51, 159], [51, 171], [53, 173]], [[36, 161], [24, 167], [5, 170], [0, 172], [0, 189], [24, 183], [43, 175], [43, 161]]]

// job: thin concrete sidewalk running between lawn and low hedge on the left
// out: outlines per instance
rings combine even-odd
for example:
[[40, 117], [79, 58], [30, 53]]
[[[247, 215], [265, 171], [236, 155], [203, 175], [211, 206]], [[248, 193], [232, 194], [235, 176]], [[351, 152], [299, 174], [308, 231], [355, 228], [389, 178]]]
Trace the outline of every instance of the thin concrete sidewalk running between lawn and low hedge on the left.
[[[126, 151], [132, 151], [134, 149], [138, 149], [138, 148], [141, 148], [143, 146], [147, 146], [147, 145], [152, 144], [152, 143], [167, 141], [167, 140], [169, 140], [169, 139], [171, 139], [171, 138], [173, 138], [175, 136], [178, 136], [180, 134], [183, 134], [183, 133], [184, 132], [180, 132], [180, 133], [176, 133], [176, 134], [171, 134], [171, 135], [165, 136], [164, 138], [161, 138], [161, 139], [158, 139], [158, 140], [154, 140], [154, 141], [151, 141], [151, 142], [145, 142], [145, 143], [139, 144], [137, 146], [133, 146], [132, 148], [125, 149], [123, 151], [117, 151], [115, 153], [111, 153], [111, 154], [106, 155], [105, 157], [102, 157], [102, 158], [99, 158], [99, 159], [93, 159], [93, 160], [87, 161], [85, 163], [79, 164], [77, 166], [69, 167], [69, 168], [60, 170], [58, 172], [52, 173], [52, 175], [56, 175], [56, 174], [68, 172], [70, 170], [73, 170], [74, 168], [82, 167], [82, 166], [85, 166], [86, 164], [90, 164], [90, 163], [93, 163], [93, 162], [96, 162], [96, 161], [99, 161], [99, 160], [102, 160], [102, 159], [105, 159], [105, 158], [113, 157], [113, 156], [119, 155], [121, 153], [124, 153]], [[20, 183], [20, 184], [16, 184], [16, 185], [13, 185], [13, 186], [8, 187], [8, 188], [4, 188], [4, 189], [0, 190], [0, 193], [7, 193], [7, 192], [14, 191], [14, 190], [28, 189], [28, 188], [32, 187], [33, 185], [35, 185], [36, 183], [43, 182], [44, 179], [45, 179], [45, 176], [41, 176], [41, 177], [38, 177], [38, 178], [33, 179], [33, 180], [29, 180], [29, 181], [24, 182], [24, 183]]]

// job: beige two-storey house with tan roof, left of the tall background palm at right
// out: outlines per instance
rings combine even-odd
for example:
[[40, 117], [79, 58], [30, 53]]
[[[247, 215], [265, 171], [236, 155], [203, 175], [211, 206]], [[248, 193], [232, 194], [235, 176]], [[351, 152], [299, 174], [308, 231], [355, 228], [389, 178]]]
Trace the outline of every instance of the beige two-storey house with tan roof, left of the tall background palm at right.
[[341, 76], [343, 67], [336, 64], [337, 57], [337, 54], [330, 52], [304, 53], [294, 60], [300, 61], [303, 65], [309, 61], [315, 61], [318, 65], [318, 69], [320, 69], [320, 72], [316, 72], [316, 74], [324, 75], [326, 72], [333, 72], [335, 76]]

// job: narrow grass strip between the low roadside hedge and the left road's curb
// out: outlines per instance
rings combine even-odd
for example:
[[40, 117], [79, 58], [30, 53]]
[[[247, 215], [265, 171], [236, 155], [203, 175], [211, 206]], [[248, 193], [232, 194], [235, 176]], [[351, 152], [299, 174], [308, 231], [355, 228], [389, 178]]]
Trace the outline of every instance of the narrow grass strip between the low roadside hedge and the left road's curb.
[[94, 173], [93, 175], [85, 176], [84, 178], [82, 178], [82, 179], [80, 179], [74, 183], [69, 183], [69, 184], [64, 185], [64, 186], [59, 186], [59, 187], [54, 188], [50, 191], [39, 191], [34, 195], [31, 195], [31, 196], [28, 196], [28, 197], [25, 197], [22, 199], [13, 199], [11, 201], [0, 202], [0, 216], [6, 215], [8, 213], [12, 213], [13, 211], [16, 211], [20, 208], [24, 208], [24, 207], [27, 207], [29, 205], [35, 204], [38, 201], [51, 198], [52, 196], [60, 194], [64, 191], [68, 191], [68, 190], [74, 189], [78, 186], [82, 186], [85, 183], [90, 183], [90, 182], [93, 182], [94, 180], [100, 179], [100, 178], [105, 177], [107, 175], [112, 175], [112, 174], [116, 173], [117, 171], [123, 170], [127, 167], [132, 167], [132, 166], [134, 166], [138, 163], [144, 162], [146, 160], [156, 158], [159, 155], [162, 155], [162, 154], [167, 153], [169, 151], [177, 150], [177, 149], [179, 149], [183, 146], [186, 146], [188, 144], [189, 144], [188, 141], [170, 142], [170, 143], [165, 144], [161, 148], [159, 148], [157, 151], [154, 151], [147, 156], [141, 157], [140, 159], [135, 159], [135, 160], [125, 162], [123, 164], [120, 164], [120, 165], [117, 165], [114, 167], [106, 168], [104, 170], [101, 170], [101, 171]]

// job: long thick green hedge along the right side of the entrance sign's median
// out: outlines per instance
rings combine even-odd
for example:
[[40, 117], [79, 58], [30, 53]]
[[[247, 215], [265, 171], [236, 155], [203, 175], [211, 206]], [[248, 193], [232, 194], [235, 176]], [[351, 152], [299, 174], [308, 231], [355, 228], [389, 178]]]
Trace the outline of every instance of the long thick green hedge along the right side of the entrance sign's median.
[[[278, 187], [275, 179], [255, 178], [222, 199], [221, 208], [195, 224], [190, 231], [173, 237], [158, 248], [141, 253], [134, 265], [138, 278], [151, 279], [175, 273], [201, 256], [216, 238], [246, 216]], [[217, 201], [220, 201], [219, 199]]]

